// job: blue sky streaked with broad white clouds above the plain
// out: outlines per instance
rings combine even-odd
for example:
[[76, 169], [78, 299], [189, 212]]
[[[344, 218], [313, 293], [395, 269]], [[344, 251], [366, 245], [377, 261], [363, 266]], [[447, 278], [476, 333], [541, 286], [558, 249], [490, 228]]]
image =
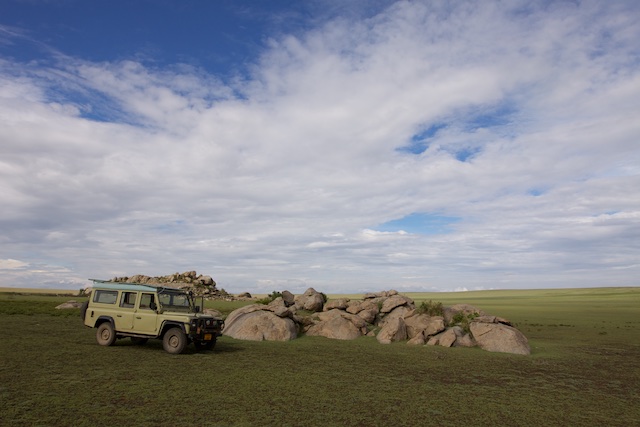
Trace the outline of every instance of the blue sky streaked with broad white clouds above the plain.
[[635, 0], [0, 0], [0, 286], [638, 286], [639, 21]]

